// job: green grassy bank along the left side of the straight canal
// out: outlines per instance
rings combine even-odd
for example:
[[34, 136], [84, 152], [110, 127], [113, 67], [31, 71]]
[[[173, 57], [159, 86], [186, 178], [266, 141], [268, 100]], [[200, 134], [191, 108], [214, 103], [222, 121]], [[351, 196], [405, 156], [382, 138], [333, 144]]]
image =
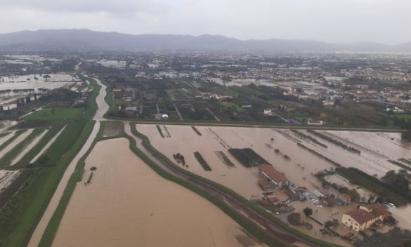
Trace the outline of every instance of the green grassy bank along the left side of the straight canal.
[[67, 125], [46, 152], [46, 163], [35, 163], [25, 169], [33, 171], [32, 175], [0, 211], [0, 246], [27, 245], [65, 169], [89, 137], [94, 125], [91, 116], [98, 108], [96, 96], [99, 89], [95, 81], [91, 84], [94, 89], [81, 119]]

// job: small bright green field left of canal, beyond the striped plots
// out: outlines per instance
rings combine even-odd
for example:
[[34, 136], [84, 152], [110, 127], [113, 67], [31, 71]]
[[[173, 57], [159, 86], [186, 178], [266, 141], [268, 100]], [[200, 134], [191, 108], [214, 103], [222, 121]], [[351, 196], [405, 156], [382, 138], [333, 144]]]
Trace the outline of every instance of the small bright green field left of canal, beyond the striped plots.
[[40, 109], [32, 114], [23, 117], [23, 120], [76, 120], [81, 118], [80, 108], [53, 108]]

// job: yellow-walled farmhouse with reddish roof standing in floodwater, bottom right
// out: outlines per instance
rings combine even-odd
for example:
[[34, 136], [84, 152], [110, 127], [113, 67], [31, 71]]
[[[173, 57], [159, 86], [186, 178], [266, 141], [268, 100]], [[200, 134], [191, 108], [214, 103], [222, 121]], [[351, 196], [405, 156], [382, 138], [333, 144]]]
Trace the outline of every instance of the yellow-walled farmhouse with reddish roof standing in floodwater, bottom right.
[[382, 222], [391, 213], [382, 204], [362, 205], [342, 215], [341, 222], [355, 231], [363, 231], [377, 222]]

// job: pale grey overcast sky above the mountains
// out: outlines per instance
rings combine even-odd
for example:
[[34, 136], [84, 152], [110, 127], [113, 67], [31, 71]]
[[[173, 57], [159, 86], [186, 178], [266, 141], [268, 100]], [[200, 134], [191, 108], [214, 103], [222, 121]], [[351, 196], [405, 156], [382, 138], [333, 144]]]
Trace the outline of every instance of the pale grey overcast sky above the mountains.
[[411, 0], [0, 0], [0, 33], [86, 28], [334, 43], [411, 41]]

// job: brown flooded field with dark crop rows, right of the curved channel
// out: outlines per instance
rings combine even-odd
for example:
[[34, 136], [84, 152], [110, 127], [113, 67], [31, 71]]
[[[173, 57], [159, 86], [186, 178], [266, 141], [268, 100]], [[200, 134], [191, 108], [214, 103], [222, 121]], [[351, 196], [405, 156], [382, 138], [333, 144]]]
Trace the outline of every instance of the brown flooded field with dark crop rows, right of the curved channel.
[[[185, 156], [190, 171], [221, 182], [243, 196], [251, 196], [261, 192], [259, 187], [256, 187], [256, 171], [255, 168], [244, 168], [238, 163], [233, 156], [228, 154], [228, 147], [251, 147], [272, 163], [275, 168], [285, 173], [289, 180], [310, 190], [321, 187], [320, 183], [313, 178], [313, 174], [324, 169], [330, 170], [334, 166], [325, 159], [298, 147], [297, 142], [301, 142], [315, 152], [341, 163], [342, 166], [359, 168], [370, 175], [377, 174], [379, 177], [387, 171], [399, 169], [398, 166], [389, 163], [388, 159], [393, 156], [396, 159], [411, 157], [411, 147], [399, 143], [400, 134], [398, 133], [318, 131], [361, 150], [360, 154], [355, 154], [317, 138], [321, 143], [327, 145], [327, 148], [321, 147], [314, 142], [299, 138], [288, 130], [197, 126], [196, 128], [202, 133], [200, 136], [191, 130], [190, 126], [171, 125], [167, 126], [171, 138], [162, 138], [154, 125], [138, 125], [137, 128], [148, 135], [152, 144], [166, 154], [169, 159], [174, 160], [173, 154], [179, 152]], [[306, 131], [301, 132], [310, 135]], [[348, 140], [345, 140], [346, 138]], [[278, 149], [278, 152], [274, 152], [275, 149]], [[193, 156], [193, 152], [196, 151], [204, 156], [212, 171], [204, 171], [197, 163]], [[216, 157], [215, 151], [225, 152], [229, 159], [235, 163], [236, 168], [225, 166]], [[388, 156], [389, 154], [391, 156]], [[285, 159], [285, 155], [289, 156], [290, 159]]]

